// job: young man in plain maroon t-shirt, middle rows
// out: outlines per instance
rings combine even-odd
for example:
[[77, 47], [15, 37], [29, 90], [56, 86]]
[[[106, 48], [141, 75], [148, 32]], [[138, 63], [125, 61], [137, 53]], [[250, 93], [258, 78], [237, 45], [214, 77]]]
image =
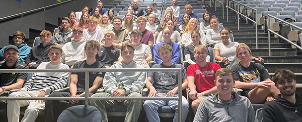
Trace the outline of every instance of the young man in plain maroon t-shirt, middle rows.
[[154, 42], [154, 36], [153, 33], [146, 29], [146, 23], [147, 18], [140, 16], [138, 18], [138, 25], [140, 27], [140, 31], [142, 32], [142, 38], [140, 40], [140, 43], [146, 44], [146, 45], [153, 45]]

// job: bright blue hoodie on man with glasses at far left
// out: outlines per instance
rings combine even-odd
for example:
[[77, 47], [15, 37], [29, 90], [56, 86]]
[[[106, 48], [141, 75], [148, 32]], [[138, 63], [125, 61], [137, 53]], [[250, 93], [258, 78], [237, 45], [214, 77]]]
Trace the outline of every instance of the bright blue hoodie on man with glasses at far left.
[[[5, 61], [4, 56], [3, 56], [5, 47], [6, 46], [4, 46], [0, 50], [0, 61], [1, 62]], [[27, 45], [27, 43], [23, 42], [21, 45], [19, 45], [17, 47], [18, 47], [18, 50], [19, 50], [19, 53], [20, 53], [18, 60], [21, 61], [21, 62], [24, 62], [25, 58], [27, 57], [28, 53], [30, 52], [29, 46]]]

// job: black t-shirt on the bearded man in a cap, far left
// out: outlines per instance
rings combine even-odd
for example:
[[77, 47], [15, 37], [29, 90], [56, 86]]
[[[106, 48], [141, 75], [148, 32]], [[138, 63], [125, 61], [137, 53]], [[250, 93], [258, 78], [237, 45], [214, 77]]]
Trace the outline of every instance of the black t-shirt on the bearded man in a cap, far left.
[[[0, 69], [28, 69], [28, 65], [19, 60], [11, 67], [6, 62], [0, 64]], [[0, 86], [7, 86], [16, 83], [18, 79], [26, 81], [28, 73], [0, 73]]]

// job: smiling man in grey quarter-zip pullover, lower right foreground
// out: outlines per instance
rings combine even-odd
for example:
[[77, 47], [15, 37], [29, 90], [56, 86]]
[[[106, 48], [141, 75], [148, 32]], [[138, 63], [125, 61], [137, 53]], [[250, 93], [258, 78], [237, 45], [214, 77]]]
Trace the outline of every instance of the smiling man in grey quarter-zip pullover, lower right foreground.
[[247, 97], [233, 92], [234, 75], [227, 68], [215, 73], [215, 96], [203, 99], [193, 122], [258, 122]]

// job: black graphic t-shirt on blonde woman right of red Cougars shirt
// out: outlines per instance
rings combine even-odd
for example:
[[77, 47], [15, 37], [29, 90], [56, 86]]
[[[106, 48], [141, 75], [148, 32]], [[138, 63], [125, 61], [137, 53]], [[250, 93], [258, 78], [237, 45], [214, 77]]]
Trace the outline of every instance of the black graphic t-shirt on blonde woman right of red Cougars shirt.
[[[243, 67], [240, 63], [232, 66], [231, 71], [234, 74], [234, 81], [241, 82], [261, 82], [266, 79], [271, 79], [271, 76], [265, 70], [265, 68], [258, 63], [251, 62], [250, 65], [246, 68]], [[252, 90], [253, 88], [242, 89], [245, 92], [245, 95]]]

